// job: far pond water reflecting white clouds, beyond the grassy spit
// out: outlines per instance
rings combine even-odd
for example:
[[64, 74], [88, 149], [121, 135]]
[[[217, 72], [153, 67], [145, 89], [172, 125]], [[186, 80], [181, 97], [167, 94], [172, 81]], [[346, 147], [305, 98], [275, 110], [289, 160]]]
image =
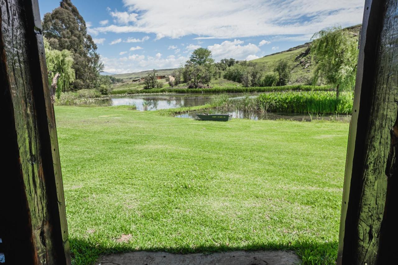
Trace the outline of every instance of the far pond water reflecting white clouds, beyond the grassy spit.
[[[250, 93], [255, 97], [263, 93]], [[99, 106], [135, 105], [137, 110], [174, 109], [179, 107], [194, 107], [209, 103], [217, 94], [163, 94], [163, 95], [132, 95], [125, 97], [111, 97], [85, 102]], [[244, 97], [247, 94], [230, 93], [230, 98]]]

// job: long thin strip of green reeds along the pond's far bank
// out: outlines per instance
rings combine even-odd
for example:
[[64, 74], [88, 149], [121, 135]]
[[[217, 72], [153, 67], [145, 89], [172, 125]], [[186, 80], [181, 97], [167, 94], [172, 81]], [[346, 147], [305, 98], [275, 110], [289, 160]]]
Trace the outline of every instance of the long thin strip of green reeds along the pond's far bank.
[[213, 88], [160, 88], [148, 90], [113, 90], [110, 94], [141, 94], [141, 93], [244, 93], [244, 92], [273, 92], [273, 91], [328, 91], [331, 90], [330, 86], [273, 86], [273, 87], [240, 87], [236, 85], [225, 85]]

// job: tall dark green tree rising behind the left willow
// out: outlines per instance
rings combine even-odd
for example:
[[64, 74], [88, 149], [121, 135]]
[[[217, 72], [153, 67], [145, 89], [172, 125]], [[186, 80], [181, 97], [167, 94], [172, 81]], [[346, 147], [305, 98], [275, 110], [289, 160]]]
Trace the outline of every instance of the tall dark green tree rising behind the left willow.
[[59, 8], [44, 15], [42, 25], [43, 34], [53, 49], [72, 52], [76, 72], [74, 88], [95, 88], [103, 64], [76, 6], [70, 0], [62, 0]]

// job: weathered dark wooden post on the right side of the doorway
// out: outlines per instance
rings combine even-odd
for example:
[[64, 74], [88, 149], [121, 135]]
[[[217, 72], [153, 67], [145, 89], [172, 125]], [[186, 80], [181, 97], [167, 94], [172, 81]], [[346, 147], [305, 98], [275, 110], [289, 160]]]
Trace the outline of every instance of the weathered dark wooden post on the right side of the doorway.
[[396, 264], [398, 0], [366, 0], [338, 264]]

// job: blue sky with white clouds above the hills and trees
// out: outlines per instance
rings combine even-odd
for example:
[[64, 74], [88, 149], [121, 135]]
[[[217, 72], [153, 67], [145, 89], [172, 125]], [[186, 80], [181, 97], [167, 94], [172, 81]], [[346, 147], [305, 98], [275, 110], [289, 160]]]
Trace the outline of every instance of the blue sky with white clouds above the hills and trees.
[[[364, 0], [72, 0], [114, 74], [177, 68], [194, 49], [253, 60], [362, 23]], [[59, 7], [39, 0], [40, 14]]]

